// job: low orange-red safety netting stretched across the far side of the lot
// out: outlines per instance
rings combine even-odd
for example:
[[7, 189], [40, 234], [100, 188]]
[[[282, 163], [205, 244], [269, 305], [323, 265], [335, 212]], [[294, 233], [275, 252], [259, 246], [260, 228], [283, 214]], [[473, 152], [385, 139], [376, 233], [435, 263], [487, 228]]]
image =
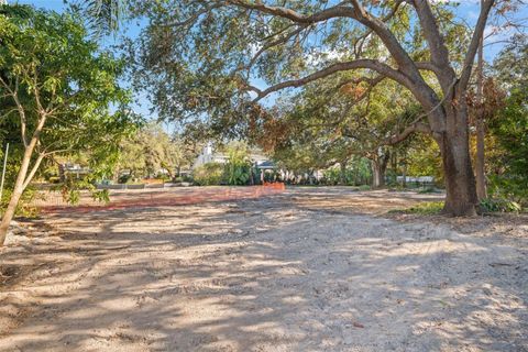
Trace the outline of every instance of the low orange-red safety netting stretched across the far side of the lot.
[[215, 187], [215, 188], [176, 188], [158, 191], [125, 191], [110, 197], [108, 204], [94, 201], [80, 202], [79, 205], [50, 205], [40, 206], [43, 212], [89, 212], [97, 210], [113, 210], [125, 208], [167, 207], [195, 205], [210, 201], [227, 201], [237, 199], [251, 199], [283, 193], [286, 189], [283, 183], [265, 183], [263, 186], [248, 187]]

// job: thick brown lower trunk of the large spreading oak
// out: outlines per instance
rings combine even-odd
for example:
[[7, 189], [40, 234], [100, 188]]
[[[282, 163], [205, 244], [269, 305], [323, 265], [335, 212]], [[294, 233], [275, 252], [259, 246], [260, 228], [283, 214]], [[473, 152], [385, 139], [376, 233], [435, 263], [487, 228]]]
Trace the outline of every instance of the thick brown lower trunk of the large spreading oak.
[[469, 145], [468, 110], [465, 105], [460, 106], [455, 116], [448, 116], [448, 129], [439, 141], [447, 193], [443, 212], [455, 217], [476, 215], [477, 205]]

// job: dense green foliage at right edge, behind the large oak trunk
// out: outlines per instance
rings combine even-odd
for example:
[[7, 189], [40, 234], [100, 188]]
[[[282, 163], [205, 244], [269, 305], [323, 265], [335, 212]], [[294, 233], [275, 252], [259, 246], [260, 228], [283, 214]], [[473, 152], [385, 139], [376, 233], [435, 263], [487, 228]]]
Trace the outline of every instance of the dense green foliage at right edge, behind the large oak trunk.
[[[495, 109], [487, 119], [494, 147], [491, 182], [494, 196], [528, 204], [528, 36], [517, 35], [494, 62], [488, 88]], [[501, 88], [506, 91], [506, 96]]]

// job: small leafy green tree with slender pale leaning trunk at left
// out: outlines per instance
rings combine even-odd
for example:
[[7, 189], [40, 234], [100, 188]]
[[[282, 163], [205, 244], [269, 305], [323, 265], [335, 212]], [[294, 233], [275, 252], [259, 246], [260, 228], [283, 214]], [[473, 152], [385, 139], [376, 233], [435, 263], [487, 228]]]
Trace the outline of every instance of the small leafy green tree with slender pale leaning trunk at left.
[[129, 99], [118, 85], [123, 65], [86, 38], [81, 19], [32, 8], [18, 15], [13, 9], [0, 11], [0, 113], [1, 123], [16, 121], [23, 153], [0, 245], [44, 158], [82, 151], [92, 169], [109, 172], [120, 139], [133, 125], [120, 109]]

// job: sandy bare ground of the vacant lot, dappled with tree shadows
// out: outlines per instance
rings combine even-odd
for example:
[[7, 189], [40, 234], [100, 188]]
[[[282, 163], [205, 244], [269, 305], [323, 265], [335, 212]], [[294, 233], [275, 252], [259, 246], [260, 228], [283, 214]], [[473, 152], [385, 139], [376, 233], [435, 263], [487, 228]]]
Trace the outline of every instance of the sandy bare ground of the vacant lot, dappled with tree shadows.
[[299, 188], [22, 222], [0, 351], [528, 351], [526, 217], [384, 216], [430, 198]]

